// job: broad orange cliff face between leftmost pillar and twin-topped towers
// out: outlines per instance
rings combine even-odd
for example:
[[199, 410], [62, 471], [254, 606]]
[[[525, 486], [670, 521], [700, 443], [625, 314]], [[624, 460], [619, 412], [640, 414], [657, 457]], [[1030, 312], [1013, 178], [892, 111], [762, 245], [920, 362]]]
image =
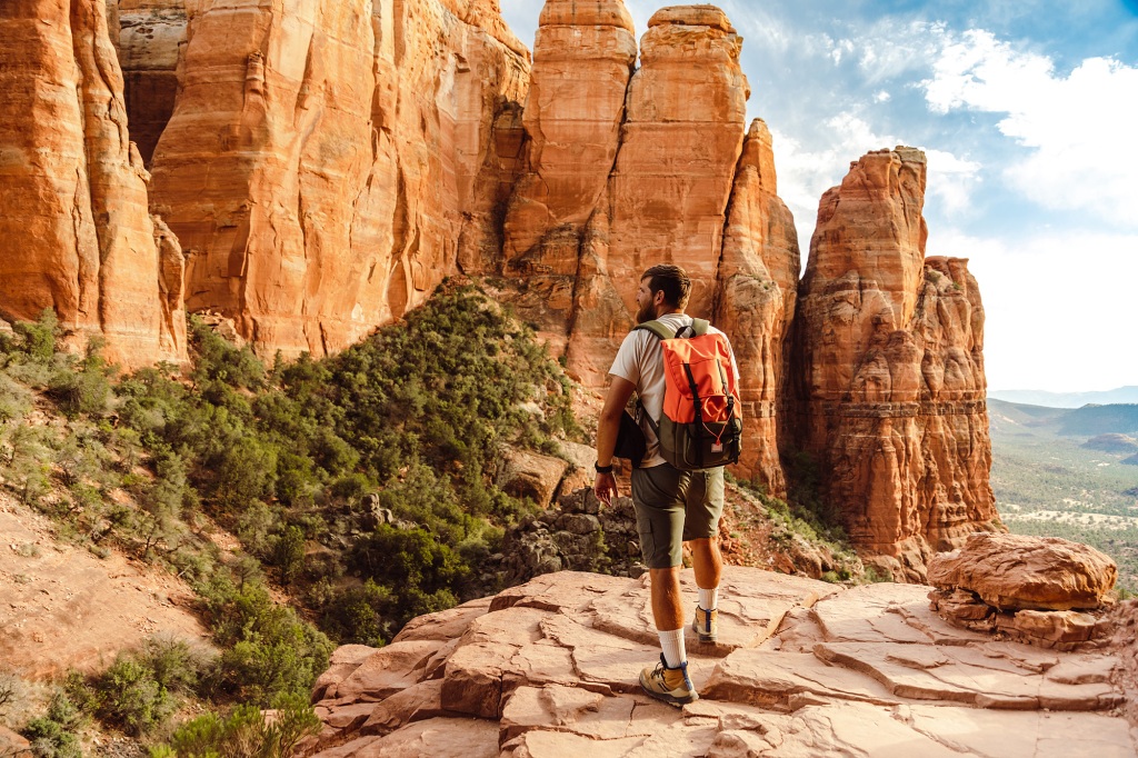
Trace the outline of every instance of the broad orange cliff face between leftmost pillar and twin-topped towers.
[[492, 244], [496, 126], [528, 83], [496, 2], [187, 10], [152, 199], [189, 256], [189, 310], [232, 316], [262, 354], [324, 355]]

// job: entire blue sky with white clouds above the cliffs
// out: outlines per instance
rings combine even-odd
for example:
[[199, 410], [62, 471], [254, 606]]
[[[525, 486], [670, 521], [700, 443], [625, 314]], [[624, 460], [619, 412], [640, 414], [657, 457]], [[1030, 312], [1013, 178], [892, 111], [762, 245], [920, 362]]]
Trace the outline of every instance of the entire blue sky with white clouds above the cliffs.
[[[501, 0], [533, 48], [541, 0]], [[625, 0], [637, 39], [669, 5]], [[1138, 0], [718, 0], [805, 253], [869, 150], [925, 150], [927, 255], [968, 258], [991, 390], [1138, 385]]]

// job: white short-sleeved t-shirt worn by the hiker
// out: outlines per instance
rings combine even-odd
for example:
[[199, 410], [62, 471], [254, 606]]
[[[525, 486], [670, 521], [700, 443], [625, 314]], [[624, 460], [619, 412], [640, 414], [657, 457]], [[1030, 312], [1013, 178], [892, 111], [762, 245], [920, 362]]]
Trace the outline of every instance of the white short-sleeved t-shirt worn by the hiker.
[[[693, 319], [686, 313], [668, 313], [657, 321], [675, 333], [681, 327], [692, 326]], [[708, 332], [723, 335], [715, 327], [709, 327]], [[732, 351], [731, 339], [726, 335], [724, 338], [727, 340], [727, 349]], [[731, 353], [731, 363], [735, 369], [735, 386], [737, 387], [739, 362], [735, 361], [734, 351]], [[663, 393], [667, 388], [667, 379], [663, 374], [663, 348], [660, 346], [660, 338], [644, 329], [634, 329], [628, 332], [625, 341], [620, 344], [620, 349], [617, 351], [617, 357], [613, 359], [609, 373], [636, 385], [636, 394], [640, 395], [644, 411], [659, 423], [660, 417], [663, 415]], [[641, 461], [641, 468], [650, 469], [653, 465], [665, 463], [666, 461], [660, 456], [660, 440], [657, 439], [648, 419], [641, 419], [641, 429], [644, 430], [644, 439], [648, 442], [648, 451], [644, 454], [644, 460]]]

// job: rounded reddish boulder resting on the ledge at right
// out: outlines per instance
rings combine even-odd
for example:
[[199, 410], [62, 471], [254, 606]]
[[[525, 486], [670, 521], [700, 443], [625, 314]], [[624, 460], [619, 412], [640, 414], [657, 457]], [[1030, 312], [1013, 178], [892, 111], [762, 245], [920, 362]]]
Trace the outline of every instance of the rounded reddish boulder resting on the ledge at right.
[[934, 587], [971, 590], [1000, 610], [1098, 608], [1116, 578], [1113, 560], [1058, 537], [974, 534], [929, 565]]

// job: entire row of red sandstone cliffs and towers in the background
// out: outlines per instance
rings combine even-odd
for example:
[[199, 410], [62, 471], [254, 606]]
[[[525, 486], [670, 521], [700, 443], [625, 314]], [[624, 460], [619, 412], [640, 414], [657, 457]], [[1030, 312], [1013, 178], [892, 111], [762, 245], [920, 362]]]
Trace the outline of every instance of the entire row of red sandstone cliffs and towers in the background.
[[823, 198], [800, 288], [711, 6], [657, 13], [637, 49], [621, 0], [549, 0], [531, 72], [495, 0], [26, 0], [0, 41], [0, 146], [23, 156], [0, 168], [2, 316], [53, 306], [129, 365], [184, 354], [184, 307], [323, 355], [462, 271], [509, 280], [599, 388], [641, 271], [670, 261], [740, 360], [737, 473], [781, 495], [780, 448], [808, 451], [899, 577], [995, 517], [983, 311], [964, 262], [924, 259], [923, 156], [871, 154]]

